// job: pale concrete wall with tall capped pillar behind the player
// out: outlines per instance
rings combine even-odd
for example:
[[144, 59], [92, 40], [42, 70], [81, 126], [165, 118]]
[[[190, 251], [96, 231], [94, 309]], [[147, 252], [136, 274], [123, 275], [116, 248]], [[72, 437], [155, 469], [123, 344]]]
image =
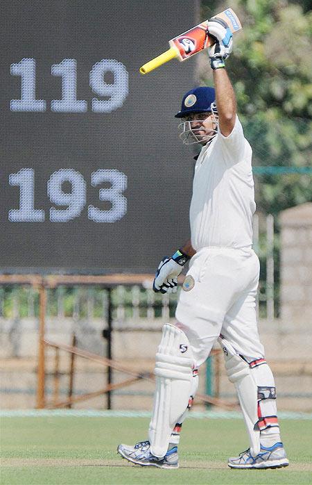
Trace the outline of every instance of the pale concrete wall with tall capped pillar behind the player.
[[[312, 204], [302, 204], [281, 213], [281, 318], [261, 320], [259, 333], [266, 349], [279, 394], [279, 409], [311, 411], [312, 376]], [[75, 331], [78, 347], [96, 354], [106, 354], [102, 336], [103, 320], [75, 322], [71, 318], [47, 319], [46, 338], [55, 342], [71, 343]], [[155, 352], [161, 337], [162, 319], [141, 322], [114, 322], [112, 354], [123, 365], [139, 372], [153, 370]], [[135, 331], [130, 331], [133, 327]], [[0, 372], [1, 405], [4, 408], [35, 406], [37, 372], [37, 329], [35, 319], [0, 318], [0, 345], [2, 370]], [[221, 359], [223, 361], [223, 359]], [[46, 391], [53, 399], [52, 350], [47, 352]], [[69, 356], [61, 354], [60, 395], [68, 389]], [[106, 369], [96, 363], [77, 360], [75, 391], [96, 391], [107, 381]], [[200, 369], [200, 392], [205, 392], [205, 366]], [[126, 376], [114, 372], [115, 382]], [[136, 395], [130, 395], [135, 391]], [[139, 381], [118, 391], [113, 397], [114, 409], [150, 409], [153, 384]], [[221, 364], [220, 395], [236, 402], [234, 388], [225, 376]], [[105, 407], [105, 396], [82, 402], [75, 407]]]

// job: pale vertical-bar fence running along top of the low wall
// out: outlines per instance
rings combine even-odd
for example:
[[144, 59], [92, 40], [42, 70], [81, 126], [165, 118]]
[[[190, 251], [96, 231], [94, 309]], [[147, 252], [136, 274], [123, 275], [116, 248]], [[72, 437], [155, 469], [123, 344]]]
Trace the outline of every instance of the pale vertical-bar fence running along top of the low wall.
[[[257, 297], [260, 318], [272, 320], [278, 315], [279, 292], [275, 281], [275, 221], [272, 215], [255, 214], [253, 220], [254, 250], [259, 254], [265, 270], [261, 273]], [[138, 325], [146, 320], [173, 318], [179, 290], [173, 295], [155, 294], [150, 281], [143, 286], [116, 286], [112, 290], [115, 322], [132, 320]], [[104, 318], [107, 295], [96, 286], [58, 286], [47, 293], [47, 316], [73, 320]], [[23, 318], [37, 318], [37, 291], [29, 285], [0, 286], [0, 318], [16, 322]]]

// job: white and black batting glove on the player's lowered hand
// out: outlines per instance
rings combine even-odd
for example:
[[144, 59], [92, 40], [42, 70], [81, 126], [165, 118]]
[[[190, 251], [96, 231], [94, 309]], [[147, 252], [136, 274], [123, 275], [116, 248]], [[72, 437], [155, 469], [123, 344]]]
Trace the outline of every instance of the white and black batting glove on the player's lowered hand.
[[177, 277], [183, 270], [183, 266], [190, 257], [180, 249], [169, 258], [164, 256], [160, 261], [155, 274], [153, 290], [155, 293], [175, 293], [177, 291]]

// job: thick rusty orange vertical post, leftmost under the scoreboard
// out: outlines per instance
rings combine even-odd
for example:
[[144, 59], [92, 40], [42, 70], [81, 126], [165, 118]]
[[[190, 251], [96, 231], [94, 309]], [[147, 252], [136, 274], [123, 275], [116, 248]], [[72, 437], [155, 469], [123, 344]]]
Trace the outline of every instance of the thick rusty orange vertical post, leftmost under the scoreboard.
[[44, 327], [46, 316], [46, 288], [44, 281], [39, 287], [39, 348], [38, 348], [38, 370], [37, 370], [37, 408], [45, 406], [44, 384], [45, 384], [45, 362], [44, 362]]

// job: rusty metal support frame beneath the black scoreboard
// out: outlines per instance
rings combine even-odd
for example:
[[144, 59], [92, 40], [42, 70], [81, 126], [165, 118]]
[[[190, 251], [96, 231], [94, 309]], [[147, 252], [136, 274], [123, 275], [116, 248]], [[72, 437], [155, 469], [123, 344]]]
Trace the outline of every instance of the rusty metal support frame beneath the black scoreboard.
[[[40, 277], [37, 275], [0, 275], [0, 284], [6, 285], [31, 285], [33, 289], [37, 291], [39, 297], [39, 328], [38, 328], [38, 352], [37, 352], [37, 408], [58, 408], [64, 406], [71, 406], [73, 403], [88, 400], [92, 397], [97, 397], [103, 394], [107, 395], [107, 409], [111, 409], [111, 393], [112, 391], [134, 384], [140, 379], [153, 380], [154, 375], [151, 372], [137, 372], [132, 370], [129, 365], [121, 365], [119, 362], [112, 359], [112, 333], [113, 331], [118, 331], [118, 328], [113, 328], [112, 313], [114, 309], [114, 304], [112, 300], [112, 290], [113, 288], [118, 288], [121, 285], [127, 285], [133, 287], [134, 285], [139, 288], [139, 283], [141, 285], [150, 286], [153, 282], [153, 276], [148, 274], [115, 274], [110, 276], [102, 277], [92, 277], [92, 276], [47, 276]], [[48, 290], [58, 288], [63, 285], [79, 284], [87, 287], [87, 292], [92, 285], [101, 286], [101, 289], [105, 291], [106, 304], [105, 304], [105, 322], [106, 326], [103, 331], [103, 336], [107, 340], [106, 356], [101, 356], [99, 354], [94, 354], [92, 352], [87, 352], [76, 346], [76, 335], [73, 334], [73, 340], [71, 345], [66, 345], [63, 342], [55, 342], [46, 338], [46, 309], [47, 309], [47, 294]], [[137, 291], [137, 290], [136, 290]], [[137, 295], [138, 296], [138, 295]], [[151, 309], [151, 302], [149, 302], [148, 309]], [[153, 303], [153, 308], [155, 307], [155, 302]], [[93, 308], [93, 307], [89, 307]], [[134, 315], [137, 317], [137, 310], [140, 308], [140, 301], [137, 299], [135, 302], [135, 312]], [[168, 308], [168, 306], [166, 307]], [[118, 309], [118, 306], [117, 306]], [[88, 312], [88, 307], [87, 307]], [[89, 314], [92, 317], [93, 312]], [[123, 329], [124, 330], [124, 329]], [[133, 330], [133, 329], [132, 329]], [[148, 329], [145, 329], [148, 330]], [[46, 400], [46, 350], [55, 350], [54, 358], [54, 372], [53, 375], [53, 401], [47, 402]], [[70, 360], [70, 370], [69, 375], [69, 388], [66, 400], [60, 400], [60, 352], [67, 352], [71, 356]], [[211, 357], [218, 356], [220, 350], [212, 350]], [[83, 395], [74, 396], [73, 395], [73, 378], [75, 372], [75, 358], [80, 356], [83, 359], [88, 359], [89, 361], [94, 361], [105, 365], [107, 368], [107, 385], [105, 388], [101, 388], [98, 391], [83, 393]], [[216, 359], [216, 367], [218, 372], [216, 372], [216, 388], [219, 388], [219, 376], [220, 376], [220, 360]], [[130, 378], [125, 379], [121, 382], [112, 381], [112, 370], [123, 372], [125, 375], [129, 375]], [[211, 376], [210, 376], [211, 377]], [[212, 378], [212, 377], [211, 377]], [[220, 406], [223, 409], [234, 409], [236, 404], [229, 404], [220, 400], [218, 395], [202, 395], [198, 394], [198, 399], [207, 403], [213, 404], [215, 406]]]

